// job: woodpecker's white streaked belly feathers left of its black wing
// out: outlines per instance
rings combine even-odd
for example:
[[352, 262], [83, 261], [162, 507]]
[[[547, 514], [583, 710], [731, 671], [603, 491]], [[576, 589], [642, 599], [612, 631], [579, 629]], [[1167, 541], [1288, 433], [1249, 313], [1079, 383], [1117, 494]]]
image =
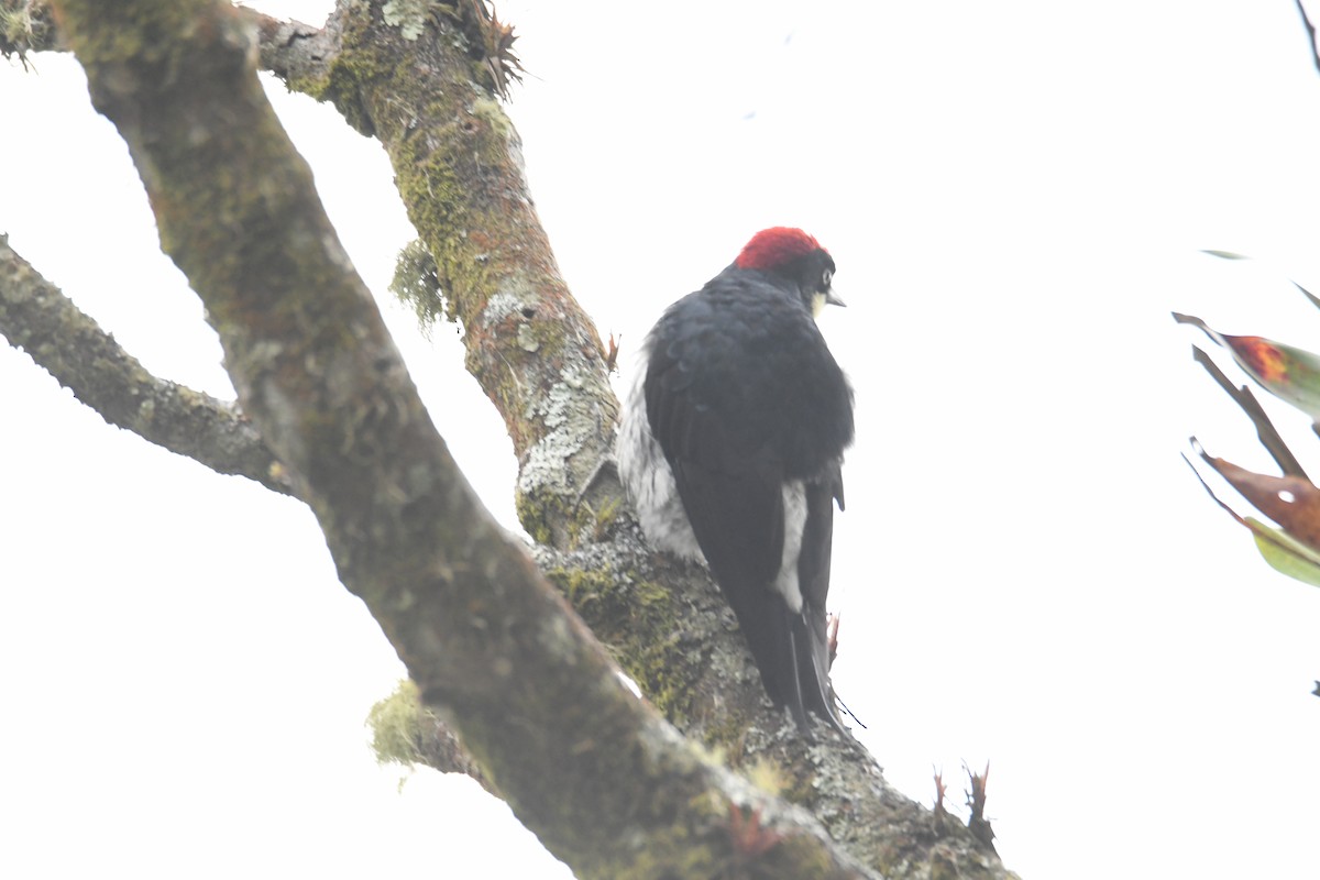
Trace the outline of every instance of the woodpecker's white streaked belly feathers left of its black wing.
[[651, 422], [647, 420], [644, 385], [649, 354], [648, 343], [639, 352], [632, 388], [623, 404], [623, 420], [614, 453], [619, 463], [619, 480], [638, 512], [642, 532], [652, 546], [680, 557], [705, 559], [688, 513], [682, 509], [673, 471], [669, 470], [664, 450], [651, 433]]

